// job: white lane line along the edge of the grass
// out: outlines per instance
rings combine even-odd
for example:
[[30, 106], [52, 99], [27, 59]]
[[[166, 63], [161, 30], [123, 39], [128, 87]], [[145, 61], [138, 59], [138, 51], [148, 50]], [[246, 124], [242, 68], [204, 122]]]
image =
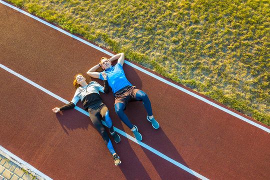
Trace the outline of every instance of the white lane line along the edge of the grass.
[[[13, 8], [13, 9], [15, 9], [15, 10], [17, 10], [17, 11], [25, 14], [25, 15], [28, 15], [29, 17], [32, 17], [33, 19], [35, 19], [35, 20], [37, 20], [37, 21], [39, 21], [39, 22], [41, 22], [43, 24], [46, 24], [46, 25], [50, 26], [51, 28], [54, 28], [54, 29], [56, 29], [56, 30], [58, 30], [58, 31], [60, 31], [60, 32], [62, 32], [64, 34], [72, 37], [72, 38], [75, 38], [78, 41], [81, 41], [81, 42], [83, 42], [83, 43], [85, 43], [85, 44], [87, 44], [87, 45], [89, 45], [89, 46], [91, 46], [91, 47], [93, 47], [93, 48], [95, 48], [95, 49], [97, 49], [97, 50], [99, 50], [99, 51], [107, 54], [107, 55], [110, 55], [110, 56], [113, 56], [114, 55], [114, 54], [112, 54], [112, 53], [110, 53], [110, 52], [108, 52], [108, 51], [106, 51], [106, 50], [104, 50], [104, 49], [102, 49], [102, 48], [94, 45], [94, 44], [91, 44], [90, 42], [87, 42], [86, 40], [83, 40], [83, 39], [81, 39], [81, 38], [79, 38], [79, 37], [77, 37], [77, 36], [75, 36], [73, 34], [70, 34], [70, 33], [66, 32], [66, 31], [64, 31], [63, 29], [61, 29], [59, 27], [56, 27], [55, 25], [52, 25], [52, 24], [50, 24], [50, 23], [48, 23], [48, 22], [46, 22], [46, 21], [44, 21], [44, 20], [42, 20], [42, 19], [34, 16], [34, 15], [31, 15], [28, 12], [25, 12], [25, 11], [23, 11], [23, 10], [21, 10], [21, 9], [15, 7], [15, 6], [13, 6], [13, 5], [10, 5], [10, 4], [2, 1], [2, 0], [0, 0], [0, 2], [2, 4], [4, 4], [4, 5], [10, 7], [10, 8]], [[191, 92], [189, 90], [186, 90], [185, 88], [182, 88], [182, 87], [180, 87], [180, 86], [178, 86], [178, 85], [176, 85], [174, 83], [171, 83], [170, 81], [168, 81], [166, 79], [163, 79], [162, 77], [159, 77], [159, 76], [157, 76], [157, 75], [155, 75], [155, 74], [153, 74], [153, 73], [151, 73], [151, 72], [149, 72], [149, 71], [147, 71], [147, 70], [145, 70], [145, 69], [143, 69], [143, 68], [141, 68], [141, 67], [139, 67], [139, 66], [137, 66], [135, 64], [132, 64], [131, 62], [128, 62], [128, 61], [125, 60], [125, 63], [128, 64], [128, 65], [130, 65], [130, 66], [132, 66], [133, 68], [136, 68], [136, 69], [138, 69], [138, 70], [140, 70], [140, 71], [142, 71], [142, 72], [144, 72], [144, 73], [146, 73], [146, 74], [148, 74], [148, 75], [150, 75], [150, 76], [152, 76], [152, 77], [154, 77], [154, 78], [156, 78], [156, 79], [158, 79], [158, 80], [160, 80], [160, 81], [168, 84], [168, 85], [171, 85], [172, 87], [175, 87], [175, 88], [177, 88], [177, 89], [179, 89], [179, 90], [181, 90], [181, 91], [183, 91], [183, 92], [185, 92], [185, 93], [187, 93], [187, 94], [189, 94], [189, 95], [191, 95], [191, 96], [193, 96], [195, 98], [198, 98], [198, 99], [202, 100], [203, 102], [205, 102], [207, 104], [210, 104], [210, 105], [212, 105], [212, 106], [214, 106], [214, 107], [216, 107], [216, 108], [218, 108], [218, 109], [220, 109], [220, 110], [222, 110], [222, 111], [224, 111], [224, 112], [226, 112], [228, 114], [233, 115], [234, 117], [237, 117], [237, 118], [239, 118], [239, 119], [241, 119], [241, 120], [243, 120], [243, 121], [245, 121], [245, 122], [247, 122], [247, 123], [249, 123], [251, 125], [254, 125], [254, 126], [256, 126], [256, 127], [260, 128], [260, 129], [265, 130], [266, 132], [270, 133], [270, 129], [268, 129], [268, 128], [266, 128], [266, 127], [264, 127], [264, 126], [262, 126], [262, 125], [260, 125], [260, 124], [258, 124], [256, 122], [254, 122], [252, 120], [249, 120], [249, 119], [247, 119], [247, 118], [245, 118], [245, 117], [243, 117], [243, 116], [241, 116], [241, 115], [239, 115], [239, 114], [237, 114], [235, 112], [232, 112], [231, 110], [228, 110], [228, 109], [226, 109], [226, 108], [224, 108], [224, 107], [222, 107], [220, 105], [217, 105], [216, 103], [211, 102], [211, 101], [205, 99], [202, 96], [199, 96], [199, 95], [197, 95], [197, 94], [195, 94], [195, 93], [193, 93], [193, 92]]]

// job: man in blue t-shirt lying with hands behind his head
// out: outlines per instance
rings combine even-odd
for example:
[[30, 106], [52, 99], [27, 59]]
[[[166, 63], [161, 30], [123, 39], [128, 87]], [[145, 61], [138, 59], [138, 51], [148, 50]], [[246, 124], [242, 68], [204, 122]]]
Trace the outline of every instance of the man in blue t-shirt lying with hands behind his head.
[[[117, 63], [113, 66], [111, 62], [117, 59]], [[138, 132], [138, 128], [133, 125], [126, 114], [124, 109], [127, 105], [127, 102], [133, 100], [140, 100], [143, 102], [143, 105], [147, 111], [146, 119], [152, 123], [153, 128], [159, 128], [158, 122], [154, 119], [152, 114], [152, 108], [150, 100], [145, 92], [140, 89], [136, 89], [135, 86], [132, 86], [131, 83], [126, 79], [123, 71], [124, 63], [124, 53], [118, 53], [111, 58], [102, 57], [100, 62], [91, 67], [87, 74], [91, 77], [104, 79], [102, 74], [105, 72], [107, 74], [108, 84], [112, 89], [113, 95], [115, 96], [114, 108], [119, 116], [119, 118], [127, 125], [133, 132], [137, 140], [141, 140], [142, 136]], [[96, 72], [96, 70], [102, 67], [103, 72]]]

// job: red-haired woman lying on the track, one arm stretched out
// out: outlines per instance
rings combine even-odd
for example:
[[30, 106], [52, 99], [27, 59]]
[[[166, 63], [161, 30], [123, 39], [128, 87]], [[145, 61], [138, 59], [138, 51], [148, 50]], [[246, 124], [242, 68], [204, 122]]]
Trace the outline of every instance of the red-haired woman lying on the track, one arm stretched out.
[[101, 86], [96, 81], [90, 81], [88, 84], [86, 83], [86, 79], [81, 74], [76, 74], [73, 85], [77, 88], [72, 100], [61, 107], [54, 107], [52, 109], [53, 112], [59, 112], [60, 110], [66, 110], [74, 108], [78, 100], [80, 99], [83, 103], [84, 109], [88, 109], [90, 119], [97, 130], [100, 132], [107, 148], [109, 149], [112, 157], [114, 159], [114, 164], [118, 165], [121, 163], [119, 156], [115, 153], [112, 143], [108, 137], [108, 134], [102, 125], [100, 117], [105, 120], [109, 131], [114, 138], [114, 141], [118, 143], [120, 141], [120, 136], [114, 131], [112, 126], [111, 118], [109, 117], [109, 111], [107, 106], [103, 103], [99, 92], [108, 93], [108, 82], [106, 73], [102, 73], [104, 78], [104, 87]]

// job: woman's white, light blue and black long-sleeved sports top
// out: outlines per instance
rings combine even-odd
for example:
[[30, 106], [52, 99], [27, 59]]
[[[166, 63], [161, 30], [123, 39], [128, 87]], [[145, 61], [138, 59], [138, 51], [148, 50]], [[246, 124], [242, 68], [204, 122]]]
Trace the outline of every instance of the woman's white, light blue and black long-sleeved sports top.
[[74, 108], [78, 100], [80, 99], [83, 103], [83, 108], [87, 110], [97, 104], [103, 103], [100, 95], [100, 92], [108, 93], [108, 81], [104, 80], [104, 87], [97, 83], [96, 81], [91, 81], [85, 86], [80, 86], [76, 89], [76, 92], [72, 100], [63, 106], [60, 107], [60, 110], [66, 110]]

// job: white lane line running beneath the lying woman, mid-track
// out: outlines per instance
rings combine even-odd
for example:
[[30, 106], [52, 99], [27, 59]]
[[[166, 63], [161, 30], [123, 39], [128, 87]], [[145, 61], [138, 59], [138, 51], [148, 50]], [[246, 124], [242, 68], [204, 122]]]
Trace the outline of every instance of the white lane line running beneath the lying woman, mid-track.
[[[60, 97], [60, 96], [58, 96], [58, 95], [52, 93], [51, 91], [45, 89], [44, 87], [38, 85], [38, 84], [35, 83], [35, 82], [29, 80], [28, 78], [26, 78], [26, 77], [20, 75], [19, 73], [13, 71], [12, 69], [10, 69], [10, 68], [8, 68], [8, 67], [2, 65], [1, 63], [0, 63], [0, 67], [3, 68], [3, 69], [6, 70], [6, 71], [12, 73], [13, 75], [19, 77], [20, 79], [22, 79], [22, 80], [28, 82], [29, 84], [33, 85], [34, 87], [36, 87], [36, 88], [42, 90], [43, 92], [45, 92], [45, 93], [51, 95], [52, 97], [54, 97], [54, 98], [56, 98], [56, 99], [58, 99], [58, 100], [60, 100], [60, 101], [62, 101], [62, 102], [64, 102], [64, 103], [69, 103], [69, 101], [65, 100], [64, 98], [62, 98], [62, 97]], [[75, 106], [75, 109], [78, 110], [78, 111], [80, 111], [80, 112], [82, 112], [83, 114], [89, 116], [89, 114], [88, 114], [85, 110], [79, 108], [78, 106]], [[102, 123], [103, 123], [104, 125], [106, 125], [105, 122], [104, 122], [103, 120], [102, 120]], [[162, 157], [163, 159], [165, 159], [165, 160], [167, 160], [167, 161], [173, 163], [174, 165], [180, 167], [181, 169], [183, 169], [183, 170], [189, 172], [190, 174], [192, 174], [192, 175], [194, 175], [194, 176], [196, 176], [196, 177], [198, 177], [198, 178], [200, 178], [200, 179], [203, 179], [203, 180], [204, 180], [204, 179], [205, 179], [205, 180], [207, 179], [206, 177], [204, 177], [204, 176], [200, 175], [199, 173], [195, 172], [194, 170], [192, 170], [192, 169], [190, 169], [190, 168], [184, 166], [183, 164], [181, 164], [181, 163], [179, 163], [179, 162], [177, 162], [177, 161], [171, 159], [170, 157], [168, 157], [168, 156], [166, 156], [165, 154], [159, 152], [158, 150], [156, 150], [156, 149], [150, 147], [149, 145], [147, 145], [147, 144], [145, 144], [145, 143], [143, 143], [143, 142], [137, 141], [134, 137], [128, 135], [128, 134], [125, 133], [124, 131], [122, 131], [122, 130], [116, 128], [116, 127], [114, 128], [114, 130], [115, 130], [116, 132], [118, 132], [119, 134], [123, 135], [124, 137], [126, 137], [126, 138], [132, 140], [133, 142], [135, 142], [135, 143], [137, 143], [137, 144], [143, 146], [144, 148], [148, 149], [149, 151], [155, 153], [156, 155]], [[34, 171], [34, 170], [35, 170], [35, 169], [33, 169], [33, 171]], [[34, 171], [34, 172], [35, 172], [35, 171]], [[37, 173], [37, 172], [36, 172], [36, 173]]]

